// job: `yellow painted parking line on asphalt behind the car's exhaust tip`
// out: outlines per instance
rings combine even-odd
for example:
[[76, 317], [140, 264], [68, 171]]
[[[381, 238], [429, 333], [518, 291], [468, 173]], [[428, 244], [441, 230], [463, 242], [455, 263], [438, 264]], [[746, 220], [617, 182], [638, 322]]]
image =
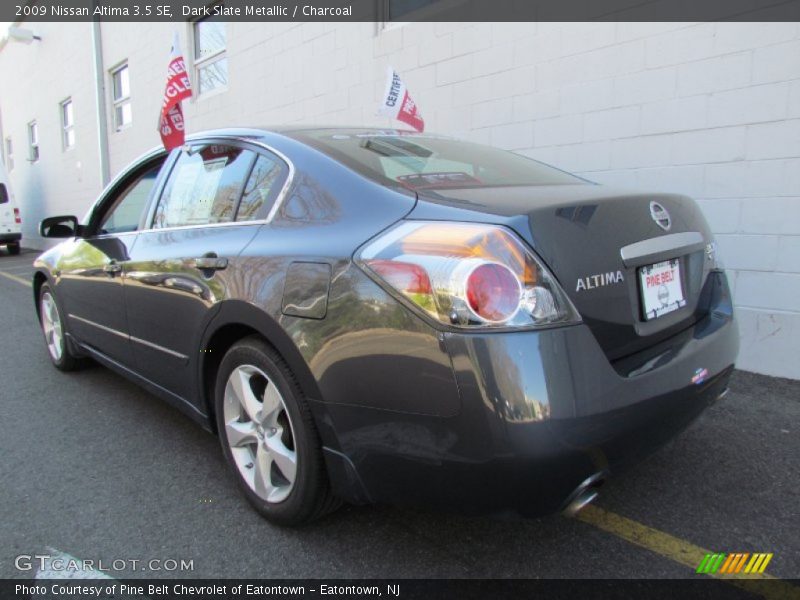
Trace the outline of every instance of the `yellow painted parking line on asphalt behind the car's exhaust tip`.
[[[713, 554], [711, 550], [695, 546], [691, 542], [676, 538], [668, 533], [603, 510], [597, 506], [587, 506], [576, 515], [576, 518], [616, 535], [627, 542], [689, 567], [691, 572], [688, 575], [694, 575], [697, 565], [700, 564], [706, 554]], [[749, 573], [733, 577], [716, 573], [710, 576], [724, 579], [728, 583], [769, 600], [797, 600], [797, 598], [800, 598], [800, 589], [767, 573]]]

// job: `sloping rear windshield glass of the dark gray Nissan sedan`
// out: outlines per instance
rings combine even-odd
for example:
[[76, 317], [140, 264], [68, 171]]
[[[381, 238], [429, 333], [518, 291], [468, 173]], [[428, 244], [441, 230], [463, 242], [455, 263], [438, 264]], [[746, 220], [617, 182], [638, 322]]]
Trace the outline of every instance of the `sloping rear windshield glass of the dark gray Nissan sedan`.
[[434, 135], [312, 130], [294, 137], [370, 179], [415, 191], [585, 183], [519, 154]]

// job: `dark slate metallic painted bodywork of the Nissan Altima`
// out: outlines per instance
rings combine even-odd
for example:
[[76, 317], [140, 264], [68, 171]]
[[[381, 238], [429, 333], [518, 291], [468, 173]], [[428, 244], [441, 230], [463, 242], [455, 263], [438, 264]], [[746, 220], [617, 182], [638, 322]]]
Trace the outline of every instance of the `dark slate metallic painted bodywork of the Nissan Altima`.
[[[73, 319], [72, 343], [209, 429], [216, 365], [236, 335], [261, 333], [308, 396], [345, 499], [555, 510], [587, 477], [654, 450], [725, 388], [737, 334], [725, 277], [700, 242], [681, 259], [687, 306], [654, 322], [638, 313], [636, 267], [660, 250], [636, 244], [689, 232], [712, 239], [687, 198], [585, 184], [417, 199], [284, 135], [195, 137], [206, 139], [290, 159], [289, 187], [270, 218], [147, 230], [162, 176], [143, 231], [64, 242], [37, 259], [36, 289], [50, 281], [66, 313], [121, 334]], [[649, 215], [653, 199], [671, 213], [670, 234]], [[403, 218], [514, 229], [583, 323], [514, 333], [432, 326], [352, 260]], [[225, 259], [224, 268], [197, 264], [208, 257]], [[105, 270], [112, 261], [123, 269]], [[576, 292], [578, 278], [617, 269], [624, 283]], [[699, 368], [709, 376], [695, 385]]]

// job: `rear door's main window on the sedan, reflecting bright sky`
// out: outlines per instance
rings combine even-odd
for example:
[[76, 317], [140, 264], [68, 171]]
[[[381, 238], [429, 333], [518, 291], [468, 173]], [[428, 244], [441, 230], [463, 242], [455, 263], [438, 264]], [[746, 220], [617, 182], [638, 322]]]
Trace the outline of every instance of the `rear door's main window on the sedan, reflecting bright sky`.
[[153, 228], [233, 221], [254, 160], [254, 152], [223, 144], [182, 151], [156, 207]]

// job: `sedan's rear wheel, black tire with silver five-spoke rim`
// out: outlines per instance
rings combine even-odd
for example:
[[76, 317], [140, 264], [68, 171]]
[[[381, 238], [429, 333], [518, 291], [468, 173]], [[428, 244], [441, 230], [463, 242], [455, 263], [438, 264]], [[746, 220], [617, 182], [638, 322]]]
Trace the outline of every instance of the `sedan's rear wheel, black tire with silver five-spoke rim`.
[[263, 517], [301, 525], [339, 506], [303, 392], [262, 338], [245, 338], [225, 354], [214, 400], [222, 452]]

